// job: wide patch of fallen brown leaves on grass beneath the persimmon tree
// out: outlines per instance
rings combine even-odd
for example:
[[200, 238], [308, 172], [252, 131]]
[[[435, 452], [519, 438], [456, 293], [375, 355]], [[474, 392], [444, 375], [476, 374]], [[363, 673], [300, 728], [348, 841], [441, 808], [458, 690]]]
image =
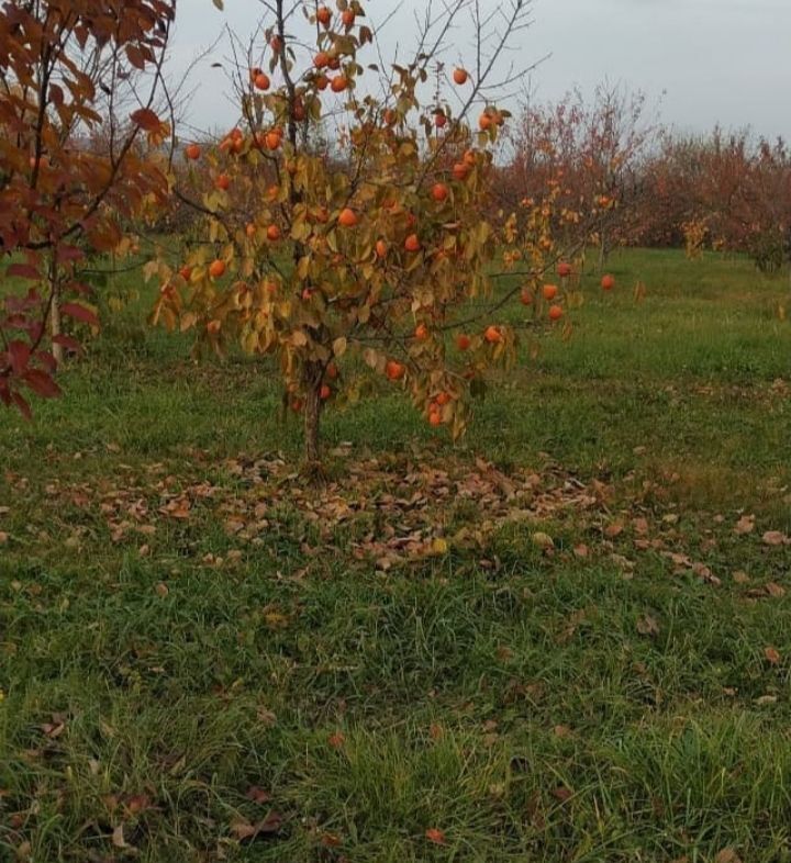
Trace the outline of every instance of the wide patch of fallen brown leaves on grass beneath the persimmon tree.
[[[356, 458], [346, 446], [332, 456], [335, 475], [319, 483], [280, 453], [215, 463], [194, 451], [179, 463], [121, 463], [92, 481], [51, 482], [44, 490], [51, 512], [42, 515], [51, 528], [59, 520], [66, 546], [76, 550], [97, 538], [89, 527], [97, 519], [107, 526], [111, 543], [136, 546], [142, 557], [167, 554], [179, 531], [191, 530], [204, 540], [207, 526], [220, 525], [223, 548], [207, 550], [205, 540], [194, 537], [186, 541], [187, 548], [200, 549], [204, 564], [239, 561], [272, 536], [286, 536], [309, 559], [321, 561], [336, 552], [383, 572], [450, 550], [484, 549], [492, 535], [514, 523], [524, 526], [538, 551], [552, 556], [556, 542], [546, 525], [560, 523], [571, 525], [576, 537], [595, 542], [595, 553], [608, 557], [626, 579], [636, 567], [633, 552], [654, 552], [676, 573], [721, 583], [710, 565], [690, 556], [678, 513], [657, 512], [639, 496], [624, 496], [623, 490], [595, 479], [583, 483], [549, 461], [539, 470], [505, 471], [482, 458], [441, 458], [430, 451]], [[26, 487], [24, 478], [15, 479]], [[85, 517], [64, 515], [69, 508]], [[731, 533], [736, 537], [757, 529], [753, 515], [734, 519]], [[725, 517], [712, 520], [718, 526]], [[716, 542], [708, 533], [699, 551]], [[8, 541], [9, 535], [2, 538]], [[765, 531], [761, 540], [765, 547], [791, 545], [778, 530]], [[572, 545], [571, 552], [591, 557], [588, 541]], [[736, 582], [742, 578], [739, 572], [732, 575]]]

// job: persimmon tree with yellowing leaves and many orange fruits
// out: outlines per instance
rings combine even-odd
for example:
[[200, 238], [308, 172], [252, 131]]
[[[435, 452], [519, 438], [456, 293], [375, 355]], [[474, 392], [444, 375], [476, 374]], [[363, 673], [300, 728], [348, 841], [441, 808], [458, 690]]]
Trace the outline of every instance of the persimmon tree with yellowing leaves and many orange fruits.
[[[541, 206], [484, 217], [509, 116], [494, 98], [522, 72], [492, 78], [528, 2], [488, 14], [469, 0], [427, 3], [414, 57], [390, 66], [359, 0], [261, 7], [260, 41], [232, 46], [238, 125], [215, 145], [185, 142], [193, 181], [174, 177], [174, 194], [202, 214], [203, 243], [176, 266], [151, 262], [152, 320], [193, 328], [198, 354], [239, 344], [275, 357], [287, 406], [304, 414], [309, 462], [324, 405], [349, 395], [353, 352], [458, 436], [486, 368], [516, 356], [497, 312], [520, 288], [494, 295], [497, 270], [539, 279], [559, 255]], [[441, 67], [437, 87], [467, 13], [475, 59]]]

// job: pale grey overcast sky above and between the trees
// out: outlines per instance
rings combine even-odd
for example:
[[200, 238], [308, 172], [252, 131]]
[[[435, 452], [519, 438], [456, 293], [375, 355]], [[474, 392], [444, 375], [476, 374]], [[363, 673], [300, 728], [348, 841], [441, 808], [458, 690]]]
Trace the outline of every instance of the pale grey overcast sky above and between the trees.
[[[263, 20], [258, 0], [180, 0], [174, 69], [183, 69], [224, 24], [250, 34]], [[508, 0], [480, 0], [484, 10]], [[333, 7], [333, 0], [327, 2]], [[374, 23], [397, 0], [364, 3]], [[403, 0], [381, 37], [386, 56], [414, 44], [414, 11], [424, 0]], [[533, 0], [533, 25], [517, 34], [510, 60], [524, 66], [550, 55], [532, 75], [539, 98], [552, 100], [579, 85], [590, 91], [608, 79], [643, 90], [661, 119], [683, 130], [749, 125], [761, 135], [791, 138], [791, 0]], [[443, 59], [469, 59], [474, 30], [468, 16], [455, 30]], [[368, 48], [368, 61], [376, 59]], [[191, 76], [190, 119], [201, 126], [235, 120], [229, 86], [212, 60]], [[467, 63], [466, 65], [469, 65]]]

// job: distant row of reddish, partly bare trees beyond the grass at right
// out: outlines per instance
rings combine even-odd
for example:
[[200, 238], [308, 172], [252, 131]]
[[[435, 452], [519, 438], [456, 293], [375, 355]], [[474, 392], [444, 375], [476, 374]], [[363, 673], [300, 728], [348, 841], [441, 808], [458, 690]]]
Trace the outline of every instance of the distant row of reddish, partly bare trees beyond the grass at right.
[[495, 194], [513, 205], [557, 183], [553, 227], [567, 245], [678, 246], [746, 253], [767, 271], [791, 255], [791, 156], [749, 131], [686, 135], [645, 97], [600, 86], [523, 107]]

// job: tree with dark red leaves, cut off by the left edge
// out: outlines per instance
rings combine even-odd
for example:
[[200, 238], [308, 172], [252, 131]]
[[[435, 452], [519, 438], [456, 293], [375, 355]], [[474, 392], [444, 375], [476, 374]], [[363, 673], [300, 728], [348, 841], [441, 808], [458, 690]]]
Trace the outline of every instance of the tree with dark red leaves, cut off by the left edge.
[[[165, 200], [146, 139], [176, 0], [7, 0], [0, 7], [0, 245], [27, 283], [0, 307], [0, 401], [30, 415], [25, 390], [59, 393], [62, 315], [96, 324], [80, 277], [123, 223]], [[98, 146], [100, 142], [100, 146]]]

